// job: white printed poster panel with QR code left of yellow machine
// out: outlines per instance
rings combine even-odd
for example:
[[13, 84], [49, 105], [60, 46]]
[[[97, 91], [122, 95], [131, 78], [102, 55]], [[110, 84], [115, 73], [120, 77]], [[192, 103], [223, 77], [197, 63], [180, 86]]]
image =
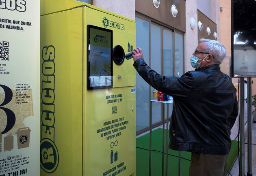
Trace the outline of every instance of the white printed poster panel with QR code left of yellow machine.
[[0, 176], [40, 175], [40, 1], [0, 0]]

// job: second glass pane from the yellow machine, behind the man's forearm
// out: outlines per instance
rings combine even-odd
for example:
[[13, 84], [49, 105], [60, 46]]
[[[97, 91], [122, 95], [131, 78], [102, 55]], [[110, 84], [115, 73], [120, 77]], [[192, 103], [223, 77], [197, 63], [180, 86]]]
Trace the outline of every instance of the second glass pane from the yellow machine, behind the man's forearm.
[[[161, 74], [161, 27], [151, 25], [151, 68]], [[153, 97], [154, 88], [151, 88]], [[152, 105], [152, 124], [161, 122], [161, 104]]]

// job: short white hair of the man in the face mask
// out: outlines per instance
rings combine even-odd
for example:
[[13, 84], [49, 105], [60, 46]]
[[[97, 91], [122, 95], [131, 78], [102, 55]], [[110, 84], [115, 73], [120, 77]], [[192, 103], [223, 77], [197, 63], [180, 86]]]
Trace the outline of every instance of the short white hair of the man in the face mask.
[[224, 57], [226, 57], [226, 48], [217, 40], [210, 40], [201, 38], [199, 43], [206, 42], [206, 47], [204, 48], [205, 53], [210, 53], [213, 56], [213, 61], [216, 64], [221, 64]]

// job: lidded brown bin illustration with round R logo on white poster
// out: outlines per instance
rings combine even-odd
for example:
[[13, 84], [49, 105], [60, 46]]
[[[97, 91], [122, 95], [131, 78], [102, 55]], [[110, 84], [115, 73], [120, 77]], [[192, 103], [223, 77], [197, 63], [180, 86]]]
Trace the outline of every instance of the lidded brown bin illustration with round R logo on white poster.
[[17, 144], [18, 149], [29, 147], [29, 138], [30, 138], [30, 129], [29, 127], [20, 128], [17, 130]]

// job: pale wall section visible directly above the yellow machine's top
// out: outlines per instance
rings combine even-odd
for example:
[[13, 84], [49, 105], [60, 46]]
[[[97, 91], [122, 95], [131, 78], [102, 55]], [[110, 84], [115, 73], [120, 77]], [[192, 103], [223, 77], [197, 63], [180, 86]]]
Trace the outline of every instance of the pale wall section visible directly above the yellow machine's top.
[[135, 0], [93, 0], [93, 5], [135, 20]]

